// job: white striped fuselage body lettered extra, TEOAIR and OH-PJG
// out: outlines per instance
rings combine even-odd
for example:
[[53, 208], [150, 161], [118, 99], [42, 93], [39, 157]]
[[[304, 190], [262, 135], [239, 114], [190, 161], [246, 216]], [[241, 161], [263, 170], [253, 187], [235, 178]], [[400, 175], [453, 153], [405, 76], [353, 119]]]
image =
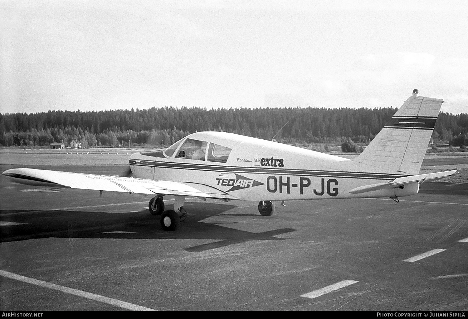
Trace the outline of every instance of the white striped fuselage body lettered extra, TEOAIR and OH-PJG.
[[[419, 184], [351, 194], [359, 186], [407, 176], [377, 172], [349, 159], [277, 142], [221, 132], [199, 132], [187, 138], [232, 149], [226, 163], [167, 157], [161, 151], [135, 153], [135, 177], [205, 184], [241, 200], [295, 200], [401, 197], [416, 194]], [[143, 152], [144, 153], [144, 152]]]

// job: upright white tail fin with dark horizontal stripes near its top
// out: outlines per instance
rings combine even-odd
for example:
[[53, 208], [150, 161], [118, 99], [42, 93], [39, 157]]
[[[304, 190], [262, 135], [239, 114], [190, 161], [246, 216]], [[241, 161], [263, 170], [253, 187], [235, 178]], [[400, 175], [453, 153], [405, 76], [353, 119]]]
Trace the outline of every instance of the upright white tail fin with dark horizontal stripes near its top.
[[439, 115], [441, 99], [413, 91], [355, 162], [380, 172], [417, 175]]

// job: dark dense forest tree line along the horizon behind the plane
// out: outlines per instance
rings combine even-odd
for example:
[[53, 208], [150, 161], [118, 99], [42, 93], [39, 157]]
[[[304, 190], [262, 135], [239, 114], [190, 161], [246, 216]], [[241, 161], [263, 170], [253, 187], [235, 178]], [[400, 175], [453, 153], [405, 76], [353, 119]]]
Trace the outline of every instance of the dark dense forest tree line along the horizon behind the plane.
[[[370, 142], [397, 108], [162, 107], [109, 111], [0, 114], [0, 144], [81, 142], [83, 147], [170, 145], [196, 131], [224, 131], [285, 143]], [[282, 128], [284, 126], [284, 128]], [[282, 128], [282, 129], [281, 129]], [[278, 133], [279, 131], [279, 133]], [[278, 134], [277, 134], [278, 133]], [[468, 135], [468, 114], [440, 113], [433, 138]]]

